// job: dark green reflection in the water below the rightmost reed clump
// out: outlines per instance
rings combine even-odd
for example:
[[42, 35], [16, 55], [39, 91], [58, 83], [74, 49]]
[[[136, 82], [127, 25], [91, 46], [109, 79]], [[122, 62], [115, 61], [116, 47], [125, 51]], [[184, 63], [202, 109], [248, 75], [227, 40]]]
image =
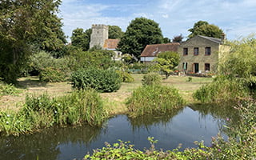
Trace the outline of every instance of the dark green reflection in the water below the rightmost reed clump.
[[190, 108], [192, 110], [197, 110], [200, 114], [200, 118], [202, 119], [206, 118], [206, 115], [210, 114], [214, 120], [218, 122], [218, 128], [227, 135], [229, 132], [223, 124], [229, 127], [241, 125], [238, 110], [235, 109], [234, 106], [229, 106], [228, 104], [225, 104], [225, 106], [198, 104], [190, 106]]

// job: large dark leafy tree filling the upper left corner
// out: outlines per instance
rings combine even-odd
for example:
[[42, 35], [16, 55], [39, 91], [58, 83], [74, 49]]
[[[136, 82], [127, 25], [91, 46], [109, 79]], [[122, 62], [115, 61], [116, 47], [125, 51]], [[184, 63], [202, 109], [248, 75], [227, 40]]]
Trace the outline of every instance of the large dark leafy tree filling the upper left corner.
[[[53, 30], [50, 17], [58, 12], [61, 0], [2, 0], [0, 2], [0, 78], [15, 82], [32, 54], [31, 46]], [[45, 38], [49, 38], [46, 34]], [[31, 45], [32, 44], [32, 45]]]

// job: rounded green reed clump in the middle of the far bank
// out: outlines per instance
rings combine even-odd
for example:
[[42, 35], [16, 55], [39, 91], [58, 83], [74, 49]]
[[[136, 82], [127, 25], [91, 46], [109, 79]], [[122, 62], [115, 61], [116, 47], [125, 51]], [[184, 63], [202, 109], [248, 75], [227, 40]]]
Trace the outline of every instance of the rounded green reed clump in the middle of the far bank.
[[131, 117], [166, 113], [184, 103], [178, 90], [169, 86], [142, 86], [134, 90], [126, 105]]

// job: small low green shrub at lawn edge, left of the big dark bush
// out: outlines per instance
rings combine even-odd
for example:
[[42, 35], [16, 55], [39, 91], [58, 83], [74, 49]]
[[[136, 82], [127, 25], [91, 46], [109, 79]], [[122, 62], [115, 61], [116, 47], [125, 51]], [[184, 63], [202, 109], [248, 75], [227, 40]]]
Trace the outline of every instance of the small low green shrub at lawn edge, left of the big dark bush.
[[40, 71], [39, 79], [42, 82], [65, 82], [66, 74], [62, 70], [46, 67]]

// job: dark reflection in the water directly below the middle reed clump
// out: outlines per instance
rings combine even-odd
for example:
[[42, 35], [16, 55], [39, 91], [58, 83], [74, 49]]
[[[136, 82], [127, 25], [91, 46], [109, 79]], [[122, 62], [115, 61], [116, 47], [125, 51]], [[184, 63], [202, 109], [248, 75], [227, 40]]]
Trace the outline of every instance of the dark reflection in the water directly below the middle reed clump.
[[166, 124], [169, 123], [175, 115], [182, 112], [183, 109], [184, 108], [174, 109], [166, 114], [146, 114], [138, 118], [128, 118], [128, 121], [132, 125], [133, 131], [140, 130], [141, 128], [150, 130], [150, 126], [153, 125], [157, 126], [160, 124], [162, 126], [166, 126]]

